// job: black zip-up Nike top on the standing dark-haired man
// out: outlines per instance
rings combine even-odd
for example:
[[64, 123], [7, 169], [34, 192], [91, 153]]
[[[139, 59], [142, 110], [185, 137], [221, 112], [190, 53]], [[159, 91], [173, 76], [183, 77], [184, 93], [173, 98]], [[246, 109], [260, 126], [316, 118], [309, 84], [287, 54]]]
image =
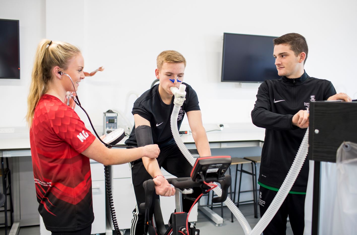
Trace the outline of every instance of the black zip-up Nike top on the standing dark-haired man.
[[[310, 102], [327, 100], [336, 90], [327, 80], [304, 74], [296, 79], [283, 76], [264, 81], [251, 112], [253, 124], [265, 128], [258, 181], [280, 188], [289, 171], [306, 129], [292, 125], [292, 117]], [[308, 161], [305, 161], [291, 191], [306, 192]]]

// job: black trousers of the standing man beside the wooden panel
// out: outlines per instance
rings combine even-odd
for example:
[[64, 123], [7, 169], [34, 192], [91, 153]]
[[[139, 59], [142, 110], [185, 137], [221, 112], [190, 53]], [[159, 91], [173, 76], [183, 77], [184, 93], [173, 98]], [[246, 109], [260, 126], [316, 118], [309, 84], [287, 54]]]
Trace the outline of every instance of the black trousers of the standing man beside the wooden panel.
[[[260, 186], [258, 198], [260, 216], [264, 215], [276, 194], [276, 191]], [[276, 215], [263, 231], [263, 235], [285, 235], [288, 216], [294, 235], [302, 235], [305, 227], [304, 207], [305, 194], [289, 193]]]

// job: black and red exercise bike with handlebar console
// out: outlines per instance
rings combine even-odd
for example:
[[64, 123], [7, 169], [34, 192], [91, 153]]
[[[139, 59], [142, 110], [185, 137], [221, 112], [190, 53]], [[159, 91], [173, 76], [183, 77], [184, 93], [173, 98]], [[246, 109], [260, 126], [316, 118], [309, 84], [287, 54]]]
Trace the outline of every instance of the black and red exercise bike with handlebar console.
[[[174, 185], [176, 211], [171, 214], [171, 225], [167, 229], [161, 214], [160, 200], [154, 198], [155, 183], [153, 180], [146, 180], [143, 183], [145, 189], [145, 202], [140, 204], [141, 209], [145, 209], [145, 231], [149, 235], [199, 235], [200, 230], [188, 223], [188, 216], [192, 207], [197, 203], [203, 194], [207, 194], [215, 188], [218, 182], [221, 185], [222, 195], [215, 197], [212, 202], [218, 203], [226, 200], [228, 187], [231, 185], [231, 176], [224, 175], [231, 164], [230, 156], [198, 157], [191, 171], [191, 177], [167, 179]], [[182, 210], [182, 194], [185, 197], [192, 194], [193, 187], [202, 191], [201, 195], [193, 202], [190, 211]], [[149, 218], [149, 210], [154, 203], [154, 216]]]

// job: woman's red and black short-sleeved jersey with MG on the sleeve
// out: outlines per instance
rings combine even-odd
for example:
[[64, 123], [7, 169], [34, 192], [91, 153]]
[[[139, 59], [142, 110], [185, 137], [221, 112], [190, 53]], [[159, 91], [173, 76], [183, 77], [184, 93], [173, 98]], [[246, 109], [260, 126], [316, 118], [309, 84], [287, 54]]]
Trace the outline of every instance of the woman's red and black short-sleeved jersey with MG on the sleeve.
[[47, 230], [76, 231], [94, 220], [89, 158], [95, 140], [70, 106], [43, 95], [30, 128], [32, 167], [39, 212]]

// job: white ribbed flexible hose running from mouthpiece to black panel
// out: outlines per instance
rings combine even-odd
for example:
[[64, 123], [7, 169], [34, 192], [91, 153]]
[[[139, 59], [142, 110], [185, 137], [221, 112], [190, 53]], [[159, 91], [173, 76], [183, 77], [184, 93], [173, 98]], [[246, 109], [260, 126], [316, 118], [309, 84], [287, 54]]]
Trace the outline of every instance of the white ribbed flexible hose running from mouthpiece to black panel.
[[[178, 132], [177, 117], [179, 111], [180, 111], [180, 106], [175, 105], [171, 114], [171, 132], [172, 135], [174, 136], [178, 148], [181, 150], [182, 154], [186, 157], [188, 162], [190, 162], [190, 164], [193, 166], [196, 160], [188, 151], [187, 147], [183, 143], [180, 134]], [[229, 197], [227, 197], [225, 204], [232, 211], [233, 215], [236, 217], [236, 219], [242, 226], [245, 235], [261, 234], [263, 230], [266, 228], [266, 226], [270, 223], [270, 221], [272, 220], [272, 218], [280, 208], [281, 204], [283, 203], [283, 201], [285, 200], [306, 159], [307, 152], [308, 152], [308, 132], [309, 129], [307, 128], [303, 140], [301, 142], [301, 145], [299, 147], [299, 150], [297, 151], [295, 160], [293, 161], [293, 164], [291, 165], [290, 170], [286, 175], [283, 184], [281, 185], [279, 191], [275, 195], [270, 206], [268, 207], [262, 218], [258, 221], [257, 225], [253, 228], [253, 230], [251, 229], [250, 225], [248, 224], [248, 221], [243, 216], [243, 214], [238, 209], [238, 207], [232, 202], [232, 200]], [[213, 189], [213, 191], [215, 191], [218, 196], [222, 195], [222, 189], [220, 187], [216, 187], [215, 189]]]

